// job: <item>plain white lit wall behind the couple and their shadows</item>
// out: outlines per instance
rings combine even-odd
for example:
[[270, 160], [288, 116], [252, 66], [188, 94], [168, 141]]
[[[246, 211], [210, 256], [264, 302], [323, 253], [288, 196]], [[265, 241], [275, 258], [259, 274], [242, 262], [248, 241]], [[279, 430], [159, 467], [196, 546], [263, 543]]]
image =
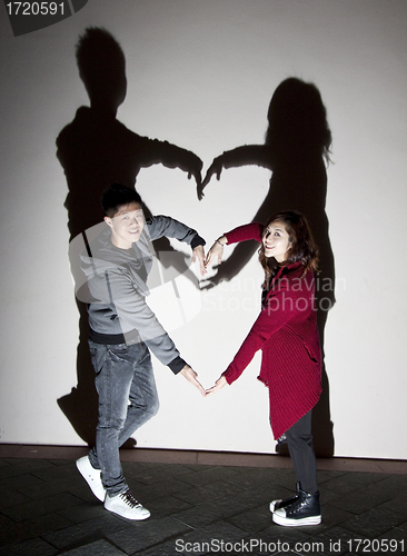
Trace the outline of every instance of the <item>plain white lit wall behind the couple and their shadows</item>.
[[[91, 24], [106, 27], [126, 54], [118, 118], [193, 150], [206, 166], [226, 149], [262, 142], [268, 102], [286, 77], [317, 85], [334, 136], [327, 212], [338, 288], [326, 363], [336, 455], [407, 458], [398, 441], [407, 395], [407, 3], [89, 0], [61, 23], [18, 38], [0, 13], [0, 441], [82, 444], [57, 405], [77, 383], [78, 314], [54, 140], [88, 103], [73, 47]], [[185, 220], [211, 244], [252, 218], [268, 180], [259, 168], [230, 169], [198, 202], [183, 172], [156, 167], [141, 171], [138, 190], [155, 212]], [[202, 294], [195, 318], [171, 331], [206, 386], [256, 317], [256, 281], [254, 259], [227, 286]], [[169, 322], [162, 304], [157, 311]], [[259, 361], [207, 399], [156, 361], [161, 409], [137, 433], [138, 445], [272, 450]]]

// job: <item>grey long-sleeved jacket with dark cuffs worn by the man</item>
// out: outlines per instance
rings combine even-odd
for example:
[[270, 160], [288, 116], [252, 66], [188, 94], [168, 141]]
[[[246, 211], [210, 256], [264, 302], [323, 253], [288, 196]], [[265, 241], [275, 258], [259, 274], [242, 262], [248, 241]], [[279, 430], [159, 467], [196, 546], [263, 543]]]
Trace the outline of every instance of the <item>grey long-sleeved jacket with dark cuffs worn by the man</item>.
[[89, 338], [105, 345], [145, 341], [159, 361], [179, 373], [186, 361], [146, 302], [147, 278], [156, 259], [151, 241], [162, 236], [192, 249], [205, 245], [196, 230], [173, 218], [155, 216], [146, 221], [140, 239], [130, 249], [115, 247], [106, 226], [83, 250], [81, 269], [91, 295]]

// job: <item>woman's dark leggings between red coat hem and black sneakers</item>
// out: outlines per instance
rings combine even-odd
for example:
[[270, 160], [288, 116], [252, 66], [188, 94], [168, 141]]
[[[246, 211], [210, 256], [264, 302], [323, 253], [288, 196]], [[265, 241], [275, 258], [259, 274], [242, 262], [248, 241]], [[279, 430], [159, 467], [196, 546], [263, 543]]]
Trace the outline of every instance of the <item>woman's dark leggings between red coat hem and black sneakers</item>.
[[317, 460], [312, 447], [311, 413], [308, 411], [292, 425], [286, 431], [286, 437], [297, 480], [301, 484], [301, 490], [316, 494], [318, 492]]

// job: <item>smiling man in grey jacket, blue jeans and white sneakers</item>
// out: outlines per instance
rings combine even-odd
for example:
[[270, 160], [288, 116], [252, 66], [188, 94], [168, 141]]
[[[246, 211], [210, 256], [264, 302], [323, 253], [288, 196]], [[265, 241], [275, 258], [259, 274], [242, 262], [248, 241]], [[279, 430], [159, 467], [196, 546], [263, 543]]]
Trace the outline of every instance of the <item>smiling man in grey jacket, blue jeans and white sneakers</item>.
[[143, 220], [140, 196], [121, 185], [102, 196], [106, 228], [81, 255], [87, 276], [89, 347], [99, 395], [96, 446], [77, 467], [105, 508], [129, 519], [150, 516], [130, 493], [119, 447], [158, 411], [150, 350], [173, 374], [181, 374], [202, 395], [197, 374], [146, 302], [153, 264], [151, 241], [162, 236], [187, 242], [205, 272], [205, 240], [166, 216]]

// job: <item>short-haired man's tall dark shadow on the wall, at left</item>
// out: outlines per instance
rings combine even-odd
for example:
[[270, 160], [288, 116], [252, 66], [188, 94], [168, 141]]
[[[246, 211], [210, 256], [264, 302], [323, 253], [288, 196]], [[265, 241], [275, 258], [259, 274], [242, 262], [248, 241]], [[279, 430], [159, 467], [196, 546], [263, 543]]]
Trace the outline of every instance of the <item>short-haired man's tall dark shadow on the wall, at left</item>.
[[[79, 252], [71, 247], [72, 240], [102, 221], [100, 197], [103, 190], [113, 182], [133, 188], [140, 169], [157, 163], [188, 172], [188, 178], [193, 176], [199, 188], [202, 161], [193, 152], [168, 141], [141, 137], [117, 119], [118, 108], [127, 92], [126, 60], [120, 44], [108, 31], [86, 29], [77, 43], [76, 56], [90, 107], [80, 107], [75, 119], [61, 130], [57, 138], [57, 157], [68, 183], [64, 207], [70, 231], [71, 271], [76, 284], [82, 285], [85, 278], [79, 268]], [[146, 205], [143, 211], [146, 217], [151, 216]], [[83, 241], [86, 244], [85, 236]], [[163, 281], [183, 274], [199, 287], [198, 279], [189, 269], [189, 261], [175, 251], [166, 238], [155, 242], [155, 248], [165, 255]], [[86, 304], [77, 300], [77, 306], [78, 386], [58, 399], [58, 404], [77, 434], [93, 446], [97, 393], [88, 349], [88, 316]]]

